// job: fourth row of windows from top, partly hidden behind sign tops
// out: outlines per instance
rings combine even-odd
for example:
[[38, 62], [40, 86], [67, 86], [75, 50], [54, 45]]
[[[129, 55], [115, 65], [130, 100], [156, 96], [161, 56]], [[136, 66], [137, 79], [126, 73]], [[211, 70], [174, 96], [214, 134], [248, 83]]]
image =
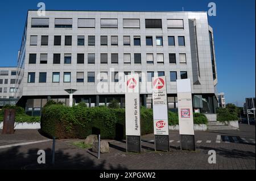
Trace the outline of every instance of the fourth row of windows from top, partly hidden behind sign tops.
[[[142, 73], [141, 71], [135, 72], [139, 74], [139, 82], [142, 82]], [[125, 75], [131, 74], [130, 71], [125, 71]], [[151, 82], [152, 78], [154, 77], [154, 71], [147, 71], [147, 82]], [[35, 83], [35, 72], [28, 73], [28, 83]], [[158, 76], [164, 76], [164, 71], [158, 71]], [[187, 79], [188, 74], [187, 71], [180, 71], [180, 78]], [[170, 71], [170, 81], [176, 82], [177, 80], [177, 72]], [[112, 72], [112, 82], [119, 82], [119, 73], [118, 71]], [[47, 82], [47, 73], [40, 72], [39, 73], [39, 83], [46, 83]], [[52, 73], [52, 82], [59, 83], [60, 82], [60, 72], [53, 72]], [[63, 82], [71, 82], [71, 72], [64, 72], [63, 73]], [[76, 75], [76, 82], [84, 82], [84, 72], [77, 72]], [[90, 71], [87, 73], [87, 82], [95, 82], [95, 72]], [[108, 71], [102, 71], [100, 73], [100, 82], [108, 82]]]

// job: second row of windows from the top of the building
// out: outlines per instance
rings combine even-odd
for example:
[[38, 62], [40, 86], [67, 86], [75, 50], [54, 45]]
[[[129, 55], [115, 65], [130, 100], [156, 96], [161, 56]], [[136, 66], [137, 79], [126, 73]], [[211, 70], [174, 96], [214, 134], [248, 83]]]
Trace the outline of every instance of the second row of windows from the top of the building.
[[[41, 45], [47, 46], [48, 45], [48, 36], [41, 36]], [[156, 45], [163, 46], [163, 36], [156, 36]], [[177, 36], [179, 46], [185, 46], [185, 37], [184, 36]], [[101, 45], [108, 46], [108, 36], [101, 36]], [[72, 36], [65, 36], [65, 43], [66, 46], [72, 45]], [[133, 44], [134, 46], [141, 46], [141, 36], [133, 36]], [[30, 45], [38, 45], [38, 36], [31, 35], [30, 36]], [[53, 45], [60, 46], [61, 45], [61, 36], [54, 36]], [[85, 36], [77, 36], [77, 45], [84, 46], [85, 45]], [[118, 45], [118, 36], [111, 36], [111, 45], [117, 46]], [[123, 45], [130, 46], [131, 45], [131, 37], [130, 36], [123, 36]], [[146, 45], [153, 46], [153, 37], [146, 36]], [[168, 45], [175, 46], [175, 36], [168, 36]], [[88, 36], [88, 46], [95, 46], [95, 36]]]

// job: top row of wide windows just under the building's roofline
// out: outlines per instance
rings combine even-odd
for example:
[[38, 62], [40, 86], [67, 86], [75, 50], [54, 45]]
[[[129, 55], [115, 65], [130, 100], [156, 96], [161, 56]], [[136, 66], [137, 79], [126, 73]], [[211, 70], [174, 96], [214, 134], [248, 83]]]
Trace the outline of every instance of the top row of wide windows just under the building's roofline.
[[[183, 19], [167, 19], [167, 28], [184, 28]], [[94, 18], [78, 18], [78, 28], [95, 28]], [[118, 19], [100, 19], [101, 28], [118, 28]], [[55, 18], [55, 28], [72, 28], [72, 18]], [[49, 18], [32, 18], [31, 28], [49, 28]], [[123, 19], [123, 28], [141, 28], [140, 19]], [[145, 19], [145, 28], [162, 28], [162, 19]]]

